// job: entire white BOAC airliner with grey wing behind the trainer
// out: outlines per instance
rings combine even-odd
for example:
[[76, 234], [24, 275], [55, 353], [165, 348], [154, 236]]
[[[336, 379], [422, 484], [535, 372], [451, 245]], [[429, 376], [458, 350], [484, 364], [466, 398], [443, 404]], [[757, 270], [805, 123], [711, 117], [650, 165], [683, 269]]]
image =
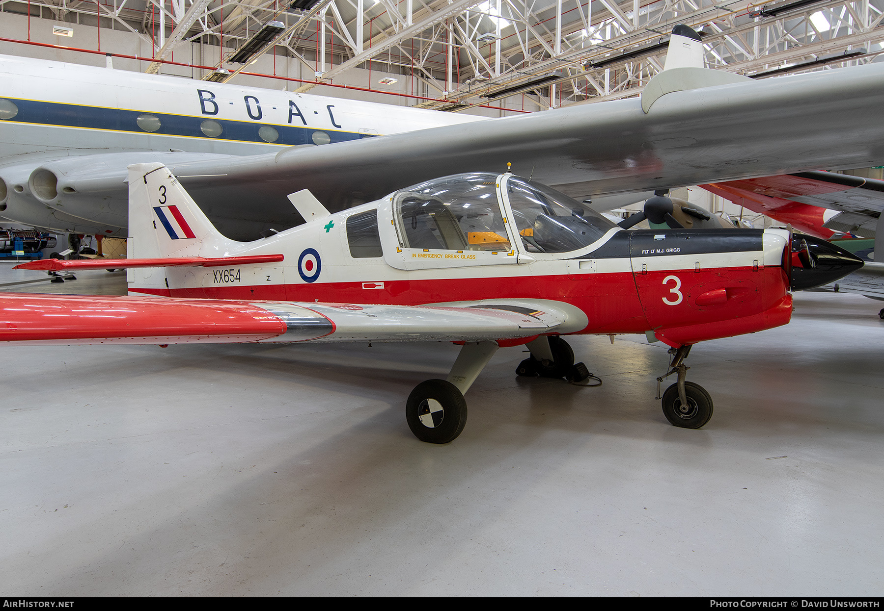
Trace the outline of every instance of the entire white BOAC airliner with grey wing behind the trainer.
[[242, 240], [303, 222], [286, 199], [301, 189], [340, 210], [507, 162], [594, 204], [884, 162], [884, 65], [755, 80], [703, 68], [702, 50], [675, 26], [640, 98], [494, 119], [4, 57], [0, 144], [21, 154], [0, 167], [0, 215], [122, 235], [134, 162], [168, 165]]

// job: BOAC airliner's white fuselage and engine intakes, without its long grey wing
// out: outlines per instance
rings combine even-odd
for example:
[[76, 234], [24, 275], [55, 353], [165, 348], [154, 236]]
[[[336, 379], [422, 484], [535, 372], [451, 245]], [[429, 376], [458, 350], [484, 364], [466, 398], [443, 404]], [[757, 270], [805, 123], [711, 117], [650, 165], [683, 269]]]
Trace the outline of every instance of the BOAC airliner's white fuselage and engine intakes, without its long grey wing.
[[[0, 79], [0, 216], [103, 236], [126, 236], [126, 200], [102, 185], [125, 194], [132, 162], [275, 155], [483, 118], [25, 57], [0, 56]], [[262, 212], [239, 204], [228, 230], [256, 236]]]

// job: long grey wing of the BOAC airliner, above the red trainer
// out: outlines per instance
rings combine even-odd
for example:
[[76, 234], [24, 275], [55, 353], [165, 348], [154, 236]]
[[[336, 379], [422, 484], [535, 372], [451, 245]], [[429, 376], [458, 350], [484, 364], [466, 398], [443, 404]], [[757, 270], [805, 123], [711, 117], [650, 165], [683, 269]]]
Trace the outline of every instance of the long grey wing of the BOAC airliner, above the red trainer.
[[[713, 72], [719, 79], [706, 84], [721, 82], [720, 72], [703, 74]], [[884, 64], [776, 79], [730, 76], [738, 82], [702, 87], [697, 78], [683, 91], [668, 83], [646, 112], [632, 98], [268, 155], [172, 153], [164, 163], [219, 230], [253, 239], [262, 223], [278, 230], [301, 223], [286, 199], [291, 192], [309, 189], [335, 211], [434, 177], [503, 171], [507, 162], [581, 200], [884, 162]], [[661, 77], [674, 79], [672, 71]], [[47, 205], [64, 200], [71, 210], [78, 197], [125, 203], [126, 163], [118, 176], [103, 170], [100, 180], [91, 179], [90, 163], [68, 158], [66, 174], [46, 164], [57, 178], [47, 175], [57, 193]]]

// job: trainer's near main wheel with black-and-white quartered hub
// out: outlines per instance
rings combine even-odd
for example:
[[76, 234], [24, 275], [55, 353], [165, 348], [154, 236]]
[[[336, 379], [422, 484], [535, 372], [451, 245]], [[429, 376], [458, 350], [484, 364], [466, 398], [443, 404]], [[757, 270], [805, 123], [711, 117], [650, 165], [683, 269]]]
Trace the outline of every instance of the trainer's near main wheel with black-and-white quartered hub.
[[423, 381], [408, 396], [405, 419], [419, 440], [448, 443], [457, 439], [467, 424], [467, 402], [449, 381]]

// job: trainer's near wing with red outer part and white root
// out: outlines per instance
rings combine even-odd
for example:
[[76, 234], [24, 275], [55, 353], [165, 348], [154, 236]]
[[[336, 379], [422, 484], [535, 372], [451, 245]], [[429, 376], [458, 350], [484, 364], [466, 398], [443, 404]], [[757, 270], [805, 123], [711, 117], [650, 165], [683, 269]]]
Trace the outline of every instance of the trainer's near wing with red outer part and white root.
[[504, 342], [586, 326], [576, 308], [542, 299], [371, 306], [4, 293], [0, 312], [4, 340], [24, 344]]

